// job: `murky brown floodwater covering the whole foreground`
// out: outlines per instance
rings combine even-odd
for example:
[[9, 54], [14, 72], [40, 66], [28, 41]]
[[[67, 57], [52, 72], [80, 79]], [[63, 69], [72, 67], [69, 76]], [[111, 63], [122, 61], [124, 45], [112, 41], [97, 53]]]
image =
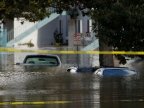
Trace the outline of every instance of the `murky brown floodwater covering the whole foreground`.
[[[5, 62], [5, 61], [4, 61]], [[0, 67], [0, 108], [143, 108], [144, 77], [22, 71]]]

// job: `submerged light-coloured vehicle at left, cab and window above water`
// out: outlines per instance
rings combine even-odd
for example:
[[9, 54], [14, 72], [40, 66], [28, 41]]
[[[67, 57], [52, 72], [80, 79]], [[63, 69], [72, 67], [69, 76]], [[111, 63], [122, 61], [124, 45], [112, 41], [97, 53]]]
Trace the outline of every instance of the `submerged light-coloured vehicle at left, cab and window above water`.
[[25, 71], [55, 71], [61, 67], [61, 60], [57, 55], [27, 55], [23, 63], [17, 63], [23, 66]]

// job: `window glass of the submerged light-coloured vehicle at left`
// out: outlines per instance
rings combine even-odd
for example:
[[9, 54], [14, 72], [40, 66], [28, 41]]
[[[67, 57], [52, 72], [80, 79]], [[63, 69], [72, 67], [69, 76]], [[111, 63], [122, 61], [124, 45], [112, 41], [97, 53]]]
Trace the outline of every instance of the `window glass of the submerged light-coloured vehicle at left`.
[[51, 66], [59, 65], [57, 57], [52, 56], [28, 56], [24, 63], [26, 64], [45, 64]]

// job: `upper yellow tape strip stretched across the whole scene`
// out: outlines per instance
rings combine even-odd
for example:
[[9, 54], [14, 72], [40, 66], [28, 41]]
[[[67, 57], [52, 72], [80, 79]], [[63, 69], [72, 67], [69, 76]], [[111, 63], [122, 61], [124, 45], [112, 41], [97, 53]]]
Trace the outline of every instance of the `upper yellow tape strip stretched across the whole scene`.
[[144, 55], [144, 51], [64, 51], [64, 50], [29, 50], [17, 48], [0, 47], [0, 52], [19, 52], [19, 53], [39, 53], [39, 54], [123, 54], [123, 55]]

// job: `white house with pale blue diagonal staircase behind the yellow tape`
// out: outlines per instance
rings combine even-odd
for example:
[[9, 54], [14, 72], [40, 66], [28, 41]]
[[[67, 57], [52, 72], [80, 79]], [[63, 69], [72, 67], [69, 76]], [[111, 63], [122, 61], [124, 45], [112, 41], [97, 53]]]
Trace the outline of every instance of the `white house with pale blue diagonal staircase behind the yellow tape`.
[[[95, 49], [95, 46], [89, 46], [93, 43], [95, 36], [92, 32], [92, 20], [88, 16], [80, 14], [75, 19], [72, 19], [66, 12], [62, 14], [53, 13], [48, 18], [38, 22], [15, 18], [9, 24], [5, 25], [5, 28], [13, 27], [13, 29], [7, 30], [7, 47], [59, 50], [60, 47], [58, 46], [61, 46], [60, 50]], [[21, 61], [22, 55], [26, 54], [15, 53], [14, 63]], [[70, 63], [79, 61], [79, 63], [82, 63], [81, 65], [92, 64], [86, 62], [90, 61], [91, 58], [88, 55], [75, 55], [69, 58], [79, 59], [68, 61]], [[62, 57], [62, 59], [67, 62], [66, 57]]]

